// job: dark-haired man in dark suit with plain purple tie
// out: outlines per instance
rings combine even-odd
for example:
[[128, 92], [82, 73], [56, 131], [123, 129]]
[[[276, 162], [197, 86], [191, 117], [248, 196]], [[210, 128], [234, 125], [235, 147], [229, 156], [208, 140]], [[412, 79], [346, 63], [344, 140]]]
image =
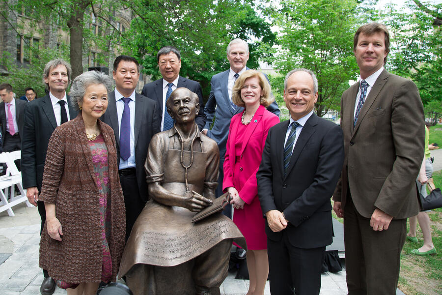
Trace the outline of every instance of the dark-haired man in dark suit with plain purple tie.
[[161, 119], [156, 101], [135, 92], [139, 78], [137, 59], [117, 57], [112, 73], [115, 89], [109, 93], [108, 109], [102, 120], [115, 134], [127, 240], [148, 199], [144, 162], [152, 136], [160, 131]]

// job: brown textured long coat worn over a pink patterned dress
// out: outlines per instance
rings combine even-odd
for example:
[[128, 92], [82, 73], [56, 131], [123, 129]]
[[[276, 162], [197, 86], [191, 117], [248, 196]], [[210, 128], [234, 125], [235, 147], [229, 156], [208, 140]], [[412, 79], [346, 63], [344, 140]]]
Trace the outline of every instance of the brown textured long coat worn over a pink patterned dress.
[[[111, 127], [98, 125], [108, 149], [111, 185], [112, 280], [115, 280], [125, 239], [125, 207], [118, 177], [115, 138]], [[39, 266], [55, 280], [69, 283], [100, 282], [102, 272], [102, 230], [99, 191], [92, 154], [81, 113], [57, 127], [49, 141], [40, 200], [55, 204], [61, 223], [62, 241], [52, 239], [46, 224], [40, 240]]]

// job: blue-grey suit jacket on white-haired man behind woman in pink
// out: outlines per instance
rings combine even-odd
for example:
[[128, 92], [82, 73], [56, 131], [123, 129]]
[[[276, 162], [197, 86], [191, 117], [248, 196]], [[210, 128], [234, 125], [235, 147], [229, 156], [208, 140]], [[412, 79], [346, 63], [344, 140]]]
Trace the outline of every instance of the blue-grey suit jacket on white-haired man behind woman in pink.
[[[249, 68], [247, 68], [249, 70]], [[227, 136], [229, 134], [230, 120], [233, 115], [241, 113], [244, 108], [237, 107], [233, 110], [230, 104], [229, 94], [227, 92], [227, 82], [229, 79], [229, 71], [218, 73], [210, 80], [210, 94], [209, 100], [207, 100], [204, 112], [206, 113], [206, 125], [207, 136], [217, 142], [218, 148], [220, 148], [221, 165], [224, 163], [225, 145], [227, 143]], [[266, 76], [267, 78], [267, 76]], [[279, 108], [274, 101], [267, 110], [279, 116]], [[213, 118], [215, 122], [212, 125]]]

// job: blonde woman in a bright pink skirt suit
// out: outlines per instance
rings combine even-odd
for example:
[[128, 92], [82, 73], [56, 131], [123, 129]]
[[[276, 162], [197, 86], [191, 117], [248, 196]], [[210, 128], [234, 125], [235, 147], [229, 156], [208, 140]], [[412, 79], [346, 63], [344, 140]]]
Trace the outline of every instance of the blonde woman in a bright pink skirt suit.
[[235, 82], [232, 102], [245, 107], [244, 112], [230, 121], [224, 160], [222, 188], [233, 197], [233, 222], [247, 242], [249, 291], [247, 295], [264, 295], [269, 274], [265, 219], [258, 199], [256, 172], [270, 127], [279, 118], [266, 110], [274, 98], [264, 75], [255, 70], [245, 71]]

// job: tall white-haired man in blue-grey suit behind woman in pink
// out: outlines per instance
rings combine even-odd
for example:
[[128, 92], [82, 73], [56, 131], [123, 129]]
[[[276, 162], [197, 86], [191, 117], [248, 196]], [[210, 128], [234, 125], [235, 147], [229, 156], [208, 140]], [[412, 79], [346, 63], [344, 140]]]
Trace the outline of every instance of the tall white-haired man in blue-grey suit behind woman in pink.
[[[246, 66], [249, 60], [249, 44], [239, 38], [230, 41], [229, 45], [227, 45], [227, 59], [230, 63], [230, 68], [214, 75], [210, 81], [209, 99], [204, 108], [207, 120], [202, 130], [202, 133], [216, 141], [218, 148], [220, 148], [220, 175], [216, 189], [217, 197], [222, 195], [222, 179], [224, 177], [222, 167], [224, 165], [225, 145], [229, 134], [230, 120], [233, 115], [244, 110], [243, 107], [237, 107], [232, 103], [232, 89], [236, 79], [246, 70], [249, 70]], [[279, 116], [280, 111], [276, 101], [268, 106], [267, 110]], [[214, 118], [213, 127], [210, 129]], [[226, 206], [224, 215], [229, 218], [232, 217], [232, 207], [230, 204]]]

